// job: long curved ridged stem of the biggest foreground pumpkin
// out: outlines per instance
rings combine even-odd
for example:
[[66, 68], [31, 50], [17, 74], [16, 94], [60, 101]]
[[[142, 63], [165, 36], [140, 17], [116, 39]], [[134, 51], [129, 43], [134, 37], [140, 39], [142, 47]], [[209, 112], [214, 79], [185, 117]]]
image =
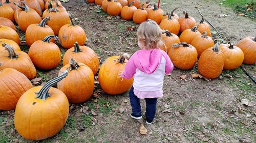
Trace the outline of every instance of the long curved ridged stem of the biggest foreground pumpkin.
[[46, 82], [46, 84], [40, 89], [40, 91], [37, 94], [36, 98], [42, 99], [42, 100], [46, 100], [48, 97], [50, 97], [50, 94], [48, 93], [50, 88], [57, 82], [59, 82], [60, 80], [62, 80], [63, 78], [65, 78], [68, 75], [69, 71], [65, 70], [63, 71], [63, 74], [55, 77], [51, 80], [49, 80], [48, 82]]

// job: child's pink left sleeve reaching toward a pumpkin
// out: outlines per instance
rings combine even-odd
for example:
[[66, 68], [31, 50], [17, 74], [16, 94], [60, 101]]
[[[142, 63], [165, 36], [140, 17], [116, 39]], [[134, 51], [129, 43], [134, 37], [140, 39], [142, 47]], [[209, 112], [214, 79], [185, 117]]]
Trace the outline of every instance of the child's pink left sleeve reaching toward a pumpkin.
[[122, 78], [130, 79], [136, 73], [137, 67], [134, 63], [134, 55], [131, 56], [131, 59], [125, 65], [125, 69], [122, 72]]

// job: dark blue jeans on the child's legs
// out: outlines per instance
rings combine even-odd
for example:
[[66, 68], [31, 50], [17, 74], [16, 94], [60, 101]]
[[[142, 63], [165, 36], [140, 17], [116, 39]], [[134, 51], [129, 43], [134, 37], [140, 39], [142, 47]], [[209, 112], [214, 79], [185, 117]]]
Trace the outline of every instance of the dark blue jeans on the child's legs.
[[[134, 88], [130, 89], [129, 97], [132, 106], [133, 115], [139, 117], [141, 116], [141, 106], [140, 106], [140, 99], [134, 94]], [[157, 98], [145, 98], [146, 100], [146, 119], [149, 121], [153, 121], [156, 115], [156, 105], [157, 105]]]

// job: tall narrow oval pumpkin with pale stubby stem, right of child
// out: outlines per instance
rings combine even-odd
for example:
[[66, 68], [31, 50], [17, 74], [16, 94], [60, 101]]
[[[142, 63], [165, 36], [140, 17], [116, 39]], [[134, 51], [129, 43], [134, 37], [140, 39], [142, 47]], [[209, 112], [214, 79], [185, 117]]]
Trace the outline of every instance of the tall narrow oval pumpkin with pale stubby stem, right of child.
[[198, 71], [204, 77], [217, 78], [224, 66], [225, 55], [220, 50], [220, 43], [202, 52], [198, 60]]

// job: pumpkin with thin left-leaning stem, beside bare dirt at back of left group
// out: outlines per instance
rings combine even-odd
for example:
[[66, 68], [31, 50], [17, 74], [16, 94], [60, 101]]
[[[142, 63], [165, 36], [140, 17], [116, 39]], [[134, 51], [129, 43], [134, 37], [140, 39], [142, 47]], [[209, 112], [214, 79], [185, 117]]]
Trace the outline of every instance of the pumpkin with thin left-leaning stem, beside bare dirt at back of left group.
[[59, 43], [62, 47], [69, 49], [74, 46], [75, 42], [79, 45], [86, 43], [86, 32], [83, 28], [75, 25], [71, 16], [70, 24], [63, 25], [59, 30]]

